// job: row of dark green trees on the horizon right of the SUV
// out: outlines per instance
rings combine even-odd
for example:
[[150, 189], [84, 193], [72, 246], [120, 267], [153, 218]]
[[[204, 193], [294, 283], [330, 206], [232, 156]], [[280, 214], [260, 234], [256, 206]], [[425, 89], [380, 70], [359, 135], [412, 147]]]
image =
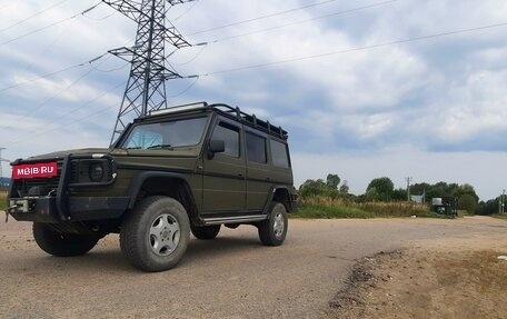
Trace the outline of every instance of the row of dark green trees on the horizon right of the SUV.
[[[369, 201], [407, 201], [407, 189], [395, 188], [392, 180], [388, 177], [372, 179], [365, 193], [356, 196], [349, 193], [347, 181], [341, 182], [338, 175], [329, 173], [326, 179], [308, 179], [299, 187], [301, 198], [327, 197], [331, 199], [346, 199], [356, 202]], [[491, 215], [498, 212], [499, 197], [488, 201], [479, 201], [473, 186], [468, 183], [414, 183], [409, 187], [409, 193], [421, 196], [424, 201], [431, 203], [433, 198], [453, 197], [458, 200], [458, 209], [466, 210], [468, 213]]]

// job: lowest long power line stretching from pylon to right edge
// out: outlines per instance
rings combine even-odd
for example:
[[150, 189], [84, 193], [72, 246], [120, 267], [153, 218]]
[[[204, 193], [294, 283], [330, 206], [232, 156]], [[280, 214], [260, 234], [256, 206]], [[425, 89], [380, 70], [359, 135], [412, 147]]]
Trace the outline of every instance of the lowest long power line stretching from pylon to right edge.
[[496, 24], [469, 28], [469, 29], [460, 29], [460, 30], [455, 30], [455, 31], [435, 33], [435, 34], [429, 34], [429, 36], [421, 36], [421, 37], [415, 37], [415, 38], [408, 38], [408, 39], [401, 39], [401, 40], [396, 40], [396, 41], [390, 41], [390, 42], [385, 42], [385, 43], [378, 43], [378, 44], [371, 44], [371, 46], [345, 49], [345, 50], [339, 50], [339, 51], [331, 51], [331, 52], [326, 52], [326, 53], [319, 53], [319, 54], [312, 54], [312, 56], [306, 56], [306, 57], [279, 60], [279, 61], [274, 61], [274, 62], [259, 63], [259, 64], [239, 67], [239, 68], [233, 68], [233, 69], [226, 69], [226, 70], [213, 71], [213, 72], [209, 72], [209, 73], [190, 76], [190, 77], [187, 77], [187, 78], [209, 77], [209, 76], [216, 76], [216, 74], [222, 74], [222, 73], [245, 71], [245, 70], [250, 70], [250, 69], [265, 68], [265, 67], [271, 67], [271, 66], [290, 63], [290, 62], [298, 62], [298, 61], [304, 61], [304, 60], [319, 59], [319, 58], [325, 58], [325, 57], [336, 56], [336, 54], [341, 54], [341, 53], [349, 53], [349, 52], [356, 52], [356, 51], [364, 51], [364, 50], [371, 50], [371, 49], [377, 49], [377, 48], [382, 48], [382, 47], [389, 47], [389, 46], [395, 46], [395, 44], [416, 42], [416, 41], [428, 40], [428, 39], [434, 39], [434, 38], [459, 34], [459, 33], [467, 33], [467, 32], [474, 32], [474, 31], [500, 28], [500, 27], [506, 27], [506, 26], [507, 26], [507, 22], [503, 22], [503, 23], [496, 23]]

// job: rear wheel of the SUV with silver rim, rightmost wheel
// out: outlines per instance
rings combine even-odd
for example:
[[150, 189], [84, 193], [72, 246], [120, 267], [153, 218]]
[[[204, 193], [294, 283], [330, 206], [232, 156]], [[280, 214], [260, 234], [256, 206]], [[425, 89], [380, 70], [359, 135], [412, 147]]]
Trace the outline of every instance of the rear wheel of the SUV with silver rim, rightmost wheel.
[[269, 218], [258, 225], [259, 238], [265, 246], [280, 246], [287, 236], [287, 210], [282, 203], [272, 201]]

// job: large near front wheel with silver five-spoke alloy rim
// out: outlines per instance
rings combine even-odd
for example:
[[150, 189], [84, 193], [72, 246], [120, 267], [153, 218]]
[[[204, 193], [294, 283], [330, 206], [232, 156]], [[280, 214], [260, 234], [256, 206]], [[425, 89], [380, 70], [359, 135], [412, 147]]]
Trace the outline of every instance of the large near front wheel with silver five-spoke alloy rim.
[[121, 225], [121, 251], [131, 265], [145, 271], [173, 268], [183, 257], [189, 240], [187, 211], [170, 197], [141, 200]]

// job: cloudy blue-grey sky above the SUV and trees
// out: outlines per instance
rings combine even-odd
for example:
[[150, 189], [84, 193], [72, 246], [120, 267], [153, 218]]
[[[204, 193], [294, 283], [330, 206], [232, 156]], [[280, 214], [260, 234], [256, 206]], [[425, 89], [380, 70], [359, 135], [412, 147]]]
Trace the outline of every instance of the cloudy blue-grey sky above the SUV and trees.
[[[100, 2], [0, 0], [3, 159], [109, 146], [129, 64], [105, 53], [133, 46], [137, 26]], [[337, 173], [357, 195], [379, 177], [469, 183], [481, 200], [506, 188], [507, 2], [199, 0], [167, 16], [207, 43], [169, 57], [199, 77], [168, 81], [168, 103], [281, 126], [296, 186]]]

